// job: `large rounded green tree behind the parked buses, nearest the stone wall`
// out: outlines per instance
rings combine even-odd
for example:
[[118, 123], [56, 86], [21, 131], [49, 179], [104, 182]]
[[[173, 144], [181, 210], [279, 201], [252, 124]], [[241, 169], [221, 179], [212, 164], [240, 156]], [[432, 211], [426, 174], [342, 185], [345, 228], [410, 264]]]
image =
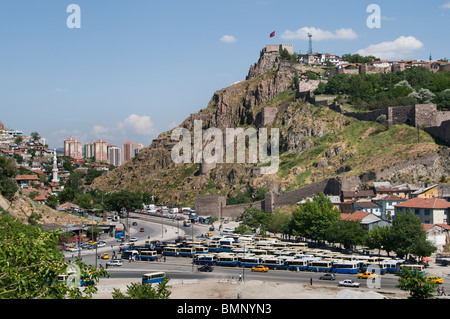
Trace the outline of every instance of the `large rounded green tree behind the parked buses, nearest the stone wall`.
[[325, 240], [329, 227], [339, 219], [340, 213], [331, 200], [320, 193], [292, 212], [292, 233], [312, 240]]

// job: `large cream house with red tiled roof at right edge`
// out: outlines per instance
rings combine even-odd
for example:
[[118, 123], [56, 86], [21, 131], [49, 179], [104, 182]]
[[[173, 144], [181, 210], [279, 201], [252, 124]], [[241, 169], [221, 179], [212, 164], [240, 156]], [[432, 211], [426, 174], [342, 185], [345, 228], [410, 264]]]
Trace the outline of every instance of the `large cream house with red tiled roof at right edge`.
[[439, 198], [413, 198], [395, 205], [395, 213], [412, 212], [422, 224], [448, 225], [450, 203]]

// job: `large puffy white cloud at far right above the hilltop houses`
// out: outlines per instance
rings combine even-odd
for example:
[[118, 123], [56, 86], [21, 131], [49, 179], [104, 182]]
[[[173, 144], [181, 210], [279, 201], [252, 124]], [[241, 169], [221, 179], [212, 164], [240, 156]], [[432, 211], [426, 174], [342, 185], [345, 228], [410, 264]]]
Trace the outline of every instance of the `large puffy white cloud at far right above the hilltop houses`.
[[363, 56], [373, 55], [381, 59], [407, 58], [413, 51], [421, 49], [423, 43], [416, 38], [401, 36], [394, 41], [372, 44], [357, 53]]

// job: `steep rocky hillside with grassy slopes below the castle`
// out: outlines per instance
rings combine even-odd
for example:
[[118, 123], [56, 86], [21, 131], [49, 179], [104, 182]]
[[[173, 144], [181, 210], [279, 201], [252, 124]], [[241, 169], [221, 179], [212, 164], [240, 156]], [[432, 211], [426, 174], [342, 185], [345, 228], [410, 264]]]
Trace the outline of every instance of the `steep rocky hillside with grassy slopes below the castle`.
[[[147, 191], [162, 201], [193, 205], [195, 196], [216, 193], [236, 196], [248, 188], [283, 192], [334, 176], [359, 176], [438, 152], [424, 131], [407, 125], [386, 127], [360, 122], [328, 107], [298, 99], [294, 82], [298, 65], [263, 56], [245, 81], [216, 91], [208, 106], [180, 126], [193, 132], [194, 121], [203, 129], [255, 127], [280, 130], [280, 167], [277, 174], [261, 175], [258, 164], [175, 164], [171, 150], [177, 141], [164, 132], [132, 161], [97, 178], [92, 188]], [[275, 117], [264, 121], [262, 110]], [[263, 120], [262, 120], [263, 119]], [[407, 171], [395, 181], [434, 181], [448, 175], [448, 166], [425, 169], [420, 176]], [[386, 176], [386, 179], [394, 178]]]

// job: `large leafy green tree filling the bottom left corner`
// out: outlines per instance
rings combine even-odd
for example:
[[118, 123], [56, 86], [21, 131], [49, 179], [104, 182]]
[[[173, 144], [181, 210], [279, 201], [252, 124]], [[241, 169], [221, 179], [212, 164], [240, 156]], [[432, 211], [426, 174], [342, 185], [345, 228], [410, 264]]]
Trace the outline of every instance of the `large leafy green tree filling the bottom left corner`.
[[1, 299], [92, 297], [97, 291], [95, 283], [106, 271], [77, 261], [80, 278], [88, 279], [83, 291], [79, 286], [59, 282], [58, 275], [67, 273], [72, 265], [57, 246], [60, 234], [23, 224], [9, 215], [0, 217]]

